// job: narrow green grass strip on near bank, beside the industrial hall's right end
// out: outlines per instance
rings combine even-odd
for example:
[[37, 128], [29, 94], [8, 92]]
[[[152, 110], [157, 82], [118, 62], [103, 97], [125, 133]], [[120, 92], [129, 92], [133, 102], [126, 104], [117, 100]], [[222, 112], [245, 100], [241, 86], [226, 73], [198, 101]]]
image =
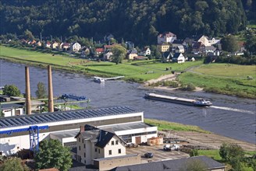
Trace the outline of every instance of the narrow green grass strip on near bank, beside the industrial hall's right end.
[[158, 126], [159, 131], [173, 130], [173, 131], [196, 131], [196, 132], [202, 132], [202, 133], [208, 133], [208, 134], [211, 133], [210, 131], [205, 131], [200, 127], [197, 127], [194, 125], [178, 124], [174, 122], [168, 122], [165, 120], [144, 119], [144, 122], [146, 124]]

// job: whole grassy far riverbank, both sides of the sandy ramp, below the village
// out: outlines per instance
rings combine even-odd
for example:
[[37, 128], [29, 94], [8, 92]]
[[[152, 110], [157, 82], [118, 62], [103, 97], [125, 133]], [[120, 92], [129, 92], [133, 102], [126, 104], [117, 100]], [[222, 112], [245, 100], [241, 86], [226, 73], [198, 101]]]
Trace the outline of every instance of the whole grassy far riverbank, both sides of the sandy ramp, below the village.
[[[57, 54], [55, 52], [47, 54], [40, 51], [28, 51], [2, 45], [0, 47], [0, 59], [15, 63], [41, 68], [52, 65], [53, 69], [91, 76], [114, 77], [124, 75], [124, 80], [139, 83], [145, 82], [145, 86], [151, 86], [152, 82], [166, 81], [172, 82], [175, 86], [180, 84], [186, 87], [186, 85], [193, 84], [196, 87], [196, 91], [204, 90], [205, 92], [256, 99], [254, 80], [256, 73], [254, 73], [253, 66], [203, 65], [202, 61], [188, 61], [183, 64], [177, 64], [162, 63], [155, 60], [123, 61], [122, 64], [116, 65], [112, 62], [97, 62], [66, 55], [62, 56], [57, 52]], [[249, 76], [249, 79], [247, 79], [247, 76]], [[158, 88], [176, 89], [176, 87], [173, 88], [171, 86], [159, 86]]]

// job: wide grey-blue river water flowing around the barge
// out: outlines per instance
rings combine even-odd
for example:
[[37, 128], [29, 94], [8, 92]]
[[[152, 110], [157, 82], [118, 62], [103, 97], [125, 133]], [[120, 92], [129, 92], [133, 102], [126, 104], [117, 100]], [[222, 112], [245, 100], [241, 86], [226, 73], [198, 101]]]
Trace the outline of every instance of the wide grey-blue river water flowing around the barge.
[[[181, 124], [197, 125], [229, 138], [256, 143], [255, 99], [243, 99], [205, 92], [183, 92], [145, 89], [137, 83], [123, 81], [93, 82], [85, 75], [52, 71], [53, 94], [75, 94], [91, 99], [90, 106], [132, 106], [144, 111], [144, 117], [167, 120]], [[37, 83], [47, 88], [48, 73], [44, 68], [30, 67], [30, 89], [35, 96]], [[0, 60], [0, 86], [14, 84], [25, 92], [25, 65]], [[194, 99], [210, 99], [213, 106], [195, 107], [144, 99], [147, 92]], [[83, 104], [84, 106], [86, 104]]]

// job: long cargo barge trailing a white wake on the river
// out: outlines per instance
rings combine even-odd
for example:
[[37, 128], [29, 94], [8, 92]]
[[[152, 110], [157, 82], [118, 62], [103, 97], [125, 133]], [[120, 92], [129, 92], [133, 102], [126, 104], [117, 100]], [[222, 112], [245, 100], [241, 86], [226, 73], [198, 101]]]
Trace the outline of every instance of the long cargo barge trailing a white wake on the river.
[[159, 95], [155, 93], [147, 93], [145, 94], [146, 99], [155, 99], [160, 100], [164, 102], [170, 102], [170, 103], [179, 103], [184, 105], [190, 105], [190, 106], [211, 106], [212, 102], [205, 100], [205, 99], [185, 99], [175, 96], [164, 96]]

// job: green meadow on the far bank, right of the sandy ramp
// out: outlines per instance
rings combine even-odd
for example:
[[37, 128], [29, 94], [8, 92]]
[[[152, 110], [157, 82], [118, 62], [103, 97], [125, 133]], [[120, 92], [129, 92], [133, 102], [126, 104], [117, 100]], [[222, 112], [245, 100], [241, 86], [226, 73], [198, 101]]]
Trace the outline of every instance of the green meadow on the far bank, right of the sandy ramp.
[[[250, 76], [252, 79], [247, 79]], [[256, 98], [254, 65], [210, 64], [179, 75], [180, 82], [193, 83], [208, 92]]]

